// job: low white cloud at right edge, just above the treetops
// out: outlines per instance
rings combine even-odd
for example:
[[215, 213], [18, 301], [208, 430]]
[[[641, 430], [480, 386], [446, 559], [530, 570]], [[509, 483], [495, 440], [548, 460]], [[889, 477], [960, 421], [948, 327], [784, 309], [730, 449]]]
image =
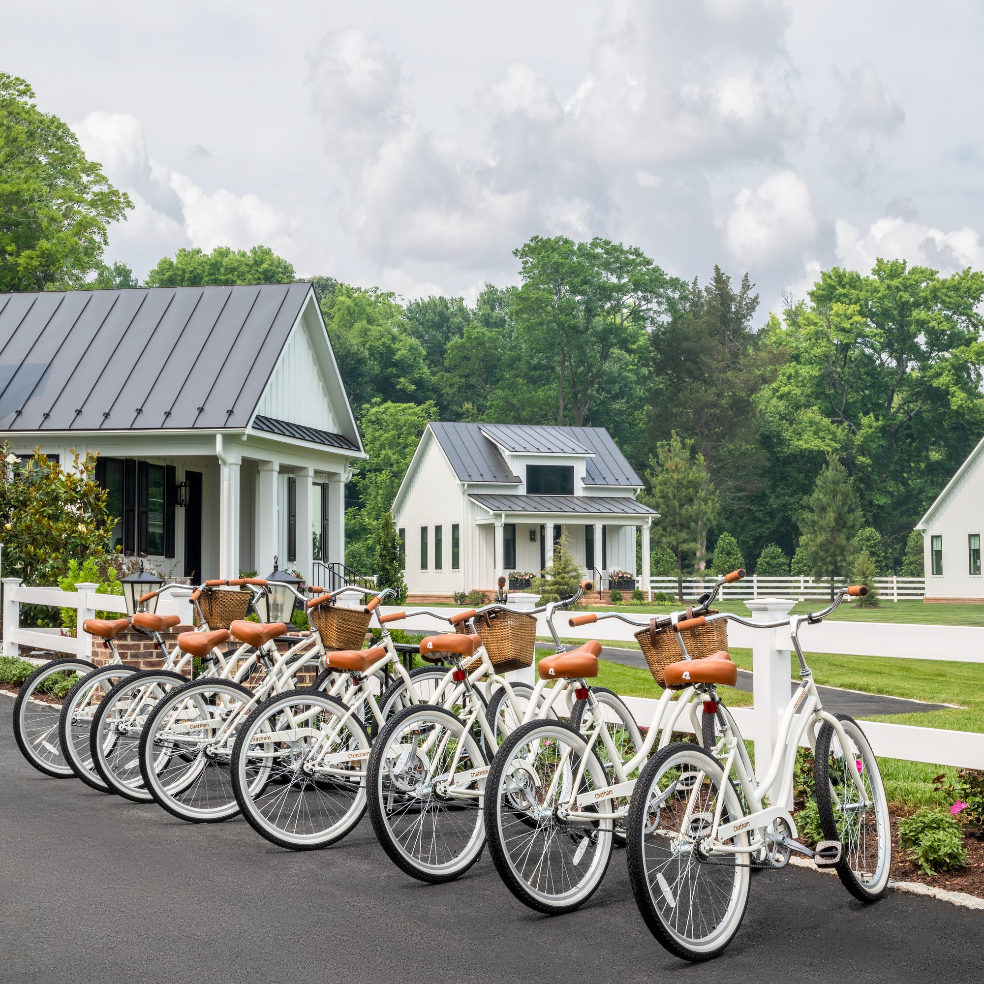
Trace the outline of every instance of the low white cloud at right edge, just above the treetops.
[[842, 267], [867, 274], [879, 258], [906, 260], [950, 275], [966, 267], [984, 268], [984, 242], [965, 226], [944, 232], [901, 217], [880, 218], [864, 235], [842, 218], [836, 221], [836, 254]]

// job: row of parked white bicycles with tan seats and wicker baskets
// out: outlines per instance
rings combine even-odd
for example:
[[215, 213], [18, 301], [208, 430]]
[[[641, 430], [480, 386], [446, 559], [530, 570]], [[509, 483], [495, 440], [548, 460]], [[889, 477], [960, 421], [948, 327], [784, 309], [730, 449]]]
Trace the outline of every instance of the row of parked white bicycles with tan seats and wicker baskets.
[[[492, 604], [450, 616], [384, 614], [389, 590], [350, 586], [307, 598], [289, 588], [309, 613], [309, 632], [242, 620], [210, 628], [203, 594], [249, 590], [264, 610], [259, 602], [272, 587], [252, 579], [202, 585], [194, 595], [199, 628], [178, 636], [160, 669], [125, 665], [113, 640], [134, 629], [166, 651], [161, 634], [176, 616], [91, 620], [87, 631], [110, 660], [97, 669], [77, 659], [39, 667], [16, 702], [15, 735], [31, 765], [48, 775], [153, 800], [192, 823], [241, 814], [283, 848], [327, 847], [368, 812], [389, 857], [423, 882], [461, 877], [487, 842], [510, 892], [542, 913], [583, 905], [613, 849], [624, 846], [653, 936], [670, 953], [707, 959], [741, 925], [753, 871], [783, 868], [799, 854], [833, 868], [848, 892], [870, 902], [886, 892], [891, 865], [878, 763], [857, 722], [824, 709], [798, 638], [803, 625], [866, 589], [845, 588], [822, 611], [766, 624], [714, 612], [721, 586], [743, 576], [721, 578], [684, 612], [569, 618], [571, 627], [619, 619], [673, 653], [661, 665], [650, 662], [664, 689], [646, 727], [616, 694], [591, 685], [601, 646], [560, 641], [555, 616], [579, 601], [586, 583], [532, 612], [510, 606], [500, 585]], [[366, 596], [361, 611], [375, 619], [373, 645], [326, 646], [326, 623], [312, 616]], [[534, 637], [514, 630], [538, 614], [556, 652], [536, 663], [530, 685], [510, 671], [533, 664]], [[439, 621], [442, 631], [419, 643], [423, 665], [407, 668], [390, 625], [412, 628], [416, 617], [431, 627]], [[725, 705], [737, 667], [725, 649], [697, 657], [688, 649], [726, 621], [787, 627], [799, 659], [801, 682], [760, 781]], [[521, 637], [522, 645], [510, 643]], [[182, 671], [193, 660], [198, 675], [189, 680]], [[313, 684], [298, 684], [301, 671], [305, 681], [314, 675]], [[45, 681], [69, 672], [79, 679], [67, 698], [45, 698]], [[814, 754], [826, 838], [812, 847], [796, 839], [788, 809], [804, 744]]]

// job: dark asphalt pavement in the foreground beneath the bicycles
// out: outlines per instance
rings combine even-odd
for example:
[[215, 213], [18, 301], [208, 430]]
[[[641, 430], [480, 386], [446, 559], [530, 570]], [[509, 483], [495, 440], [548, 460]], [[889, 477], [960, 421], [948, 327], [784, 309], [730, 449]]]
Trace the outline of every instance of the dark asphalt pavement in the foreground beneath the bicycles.
[[616, 851], [584, 908], [525, 909], [487, 856], [458, 882], [402, 875], [368, 821], [292, 853], [242, 821], [191, 826], [156, 806], [48, 779], [21, 758], [0, 697], [0, 981], [553, 984], [980, 980], [984, 914], [891, 892], [865, 908], [835, 878], [755, 876], [710, 966], [652, 939]]

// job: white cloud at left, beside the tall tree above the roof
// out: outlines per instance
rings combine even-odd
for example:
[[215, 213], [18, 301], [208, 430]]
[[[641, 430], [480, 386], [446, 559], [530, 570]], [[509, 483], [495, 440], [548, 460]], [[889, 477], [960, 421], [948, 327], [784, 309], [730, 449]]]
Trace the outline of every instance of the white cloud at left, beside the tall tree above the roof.
[[143, 276], [160, 257], [181, 247], [246, 249], [263, 243], [287, 259], [296, 253], [300, 220], [283, 215], [257, 195], [225, 188], [206, 192], [148, 154], [143, 124], [128, 113], [94, 111], [73, 127], [87, 156], [134, 203], [110, 230], [110, 259], [131, 264]]

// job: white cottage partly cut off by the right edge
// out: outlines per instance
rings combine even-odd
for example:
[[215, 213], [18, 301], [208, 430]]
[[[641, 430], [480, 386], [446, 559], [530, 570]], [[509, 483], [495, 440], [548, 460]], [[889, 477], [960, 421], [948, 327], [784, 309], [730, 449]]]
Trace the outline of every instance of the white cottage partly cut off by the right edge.
[[984, 439], [916, 523], [916, 529], [923, 531], [924, 600], [984, 602]]

